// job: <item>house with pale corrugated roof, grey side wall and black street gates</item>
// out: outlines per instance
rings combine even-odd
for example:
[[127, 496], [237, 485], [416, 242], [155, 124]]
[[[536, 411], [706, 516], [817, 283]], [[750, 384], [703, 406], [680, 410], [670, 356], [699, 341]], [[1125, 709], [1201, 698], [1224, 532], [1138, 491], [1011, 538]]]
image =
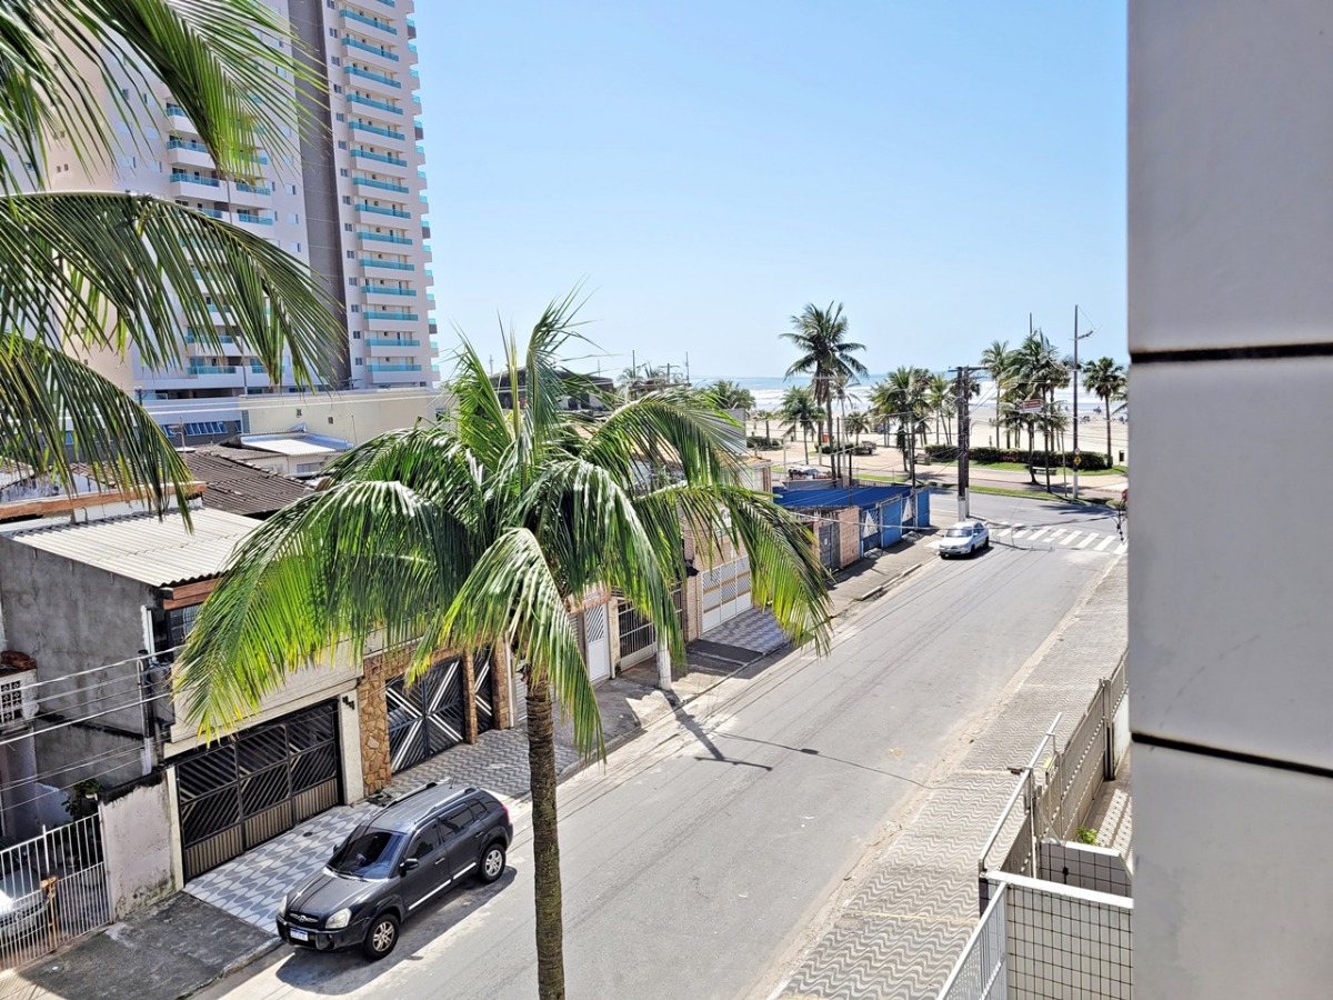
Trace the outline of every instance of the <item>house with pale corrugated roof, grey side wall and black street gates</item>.
[[208, 507], [191, 515], [189, 531], [180, 513], [139, 513], [0, 533], [0, 651], [28, 668], [23, 711], [0, 740], [0, 832], [32, 835], [79, 783], [109, 796], [140, 789], [136, 836], [161, 845], [141, 861], [155, 872], [145, 900], [509, 725], [503, 661], [445, 655], [408, 688], [403, 651], [360, 663], [336, 651], [207, 744], [171, 665], [255, 520]]

